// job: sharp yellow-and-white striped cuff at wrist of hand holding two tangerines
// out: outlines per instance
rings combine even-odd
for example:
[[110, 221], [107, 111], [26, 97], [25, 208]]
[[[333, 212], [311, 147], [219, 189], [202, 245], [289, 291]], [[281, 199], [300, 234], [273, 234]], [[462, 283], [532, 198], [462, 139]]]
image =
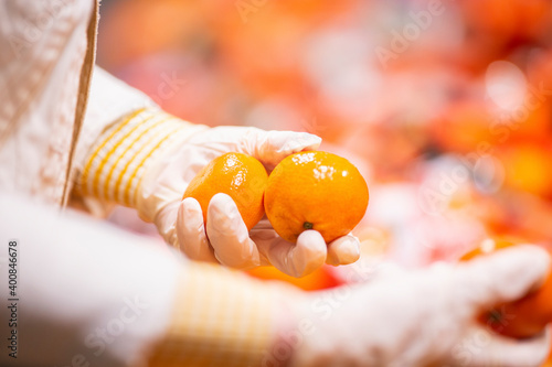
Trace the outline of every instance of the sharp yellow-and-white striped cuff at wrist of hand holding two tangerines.
[[78, 180], [82, 195], [136, 207], [148, 162], [182, 140], [189, 122], [157, 109], [139, 109], [103, 132]]

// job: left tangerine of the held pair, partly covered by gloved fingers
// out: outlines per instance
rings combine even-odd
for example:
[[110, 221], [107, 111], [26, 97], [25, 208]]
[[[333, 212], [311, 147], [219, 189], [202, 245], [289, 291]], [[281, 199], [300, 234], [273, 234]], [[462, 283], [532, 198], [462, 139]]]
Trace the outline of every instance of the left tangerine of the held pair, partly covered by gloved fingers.
[[264, 215], [263, 194], [268, 174], [255, 158], [226, 153], [205, 165], [188, 185], [185, 197], [195, 198], [206, 223], [209, 202], [217, 193], [230, 195], [251, 230]]

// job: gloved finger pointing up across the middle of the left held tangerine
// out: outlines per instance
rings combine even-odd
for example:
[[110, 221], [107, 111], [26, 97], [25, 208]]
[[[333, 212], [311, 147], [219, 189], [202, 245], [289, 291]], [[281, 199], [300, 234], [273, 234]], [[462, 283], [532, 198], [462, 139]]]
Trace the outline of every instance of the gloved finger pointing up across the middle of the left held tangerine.
[[250, 238], [237, 206], [226, 194], [216, 194], [208, 208], [206, 234], [216, 259], [231, 268], [258, 267], [257, 246]]

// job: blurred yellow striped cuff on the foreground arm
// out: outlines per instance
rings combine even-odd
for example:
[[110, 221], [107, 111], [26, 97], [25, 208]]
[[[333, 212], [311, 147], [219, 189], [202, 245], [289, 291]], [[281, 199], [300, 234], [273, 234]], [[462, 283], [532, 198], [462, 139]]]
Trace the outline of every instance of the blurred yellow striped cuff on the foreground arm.
[[295, 294], [234, 270], [193, 262], [178, 292], [171, 326], [149, 366], [262, 366], [277, 339], [278, 299]]

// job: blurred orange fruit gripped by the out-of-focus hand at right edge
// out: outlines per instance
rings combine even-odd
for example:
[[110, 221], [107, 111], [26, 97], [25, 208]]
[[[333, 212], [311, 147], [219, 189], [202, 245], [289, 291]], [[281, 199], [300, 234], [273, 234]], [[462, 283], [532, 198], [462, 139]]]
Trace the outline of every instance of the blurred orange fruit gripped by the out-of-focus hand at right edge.
[[[464, 255], [460, 260], [470, 260], [514, 245], [511, 241], [488, 239]], [[516, 338], [541, 333], [546, 324], [552, 322], [552, 274], [548, 276], [538, 290], [518, 301], [496, 305], [485, 312], [479, 321], [499, 334]]]

